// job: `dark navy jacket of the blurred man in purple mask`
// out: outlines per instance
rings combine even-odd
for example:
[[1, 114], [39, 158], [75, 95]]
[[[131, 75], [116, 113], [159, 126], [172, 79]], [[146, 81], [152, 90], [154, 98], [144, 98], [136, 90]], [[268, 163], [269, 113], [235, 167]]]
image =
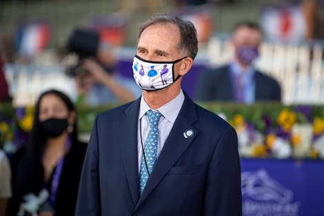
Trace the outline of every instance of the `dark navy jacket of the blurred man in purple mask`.
[[[230, 66], [207, 70], [199, 77], [196, 99], [201, 101], [234, 101], [234, 88], [230, 76]], [[281, 87], [278, 82], [256, 71], [255, 101], [281, 101]]]

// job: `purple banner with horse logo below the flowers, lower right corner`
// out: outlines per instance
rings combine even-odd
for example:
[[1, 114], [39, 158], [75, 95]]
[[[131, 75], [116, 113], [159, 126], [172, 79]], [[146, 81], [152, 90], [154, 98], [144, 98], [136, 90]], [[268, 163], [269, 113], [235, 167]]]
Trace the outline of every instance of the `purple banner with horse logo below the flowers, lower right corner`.
[[324, 215], [324, 161], [241, 159], [245, 216]]

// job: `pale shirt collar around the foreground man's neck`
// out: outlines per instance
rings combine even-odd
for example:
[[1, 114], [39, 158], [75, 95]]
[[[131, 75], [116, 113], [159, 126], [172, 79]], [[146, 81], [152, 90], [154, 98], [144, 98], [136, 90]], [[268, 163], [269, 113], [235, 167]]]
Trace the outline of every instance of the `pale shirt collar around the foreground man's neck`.
[[[176, 117], [178, 117], [179, 112], [181, 110], [183, 101], [185, 101], [185, 95], [183, 95], [183, 91], [180, 90], [179, 95], [177, 95], [174, 99], [169, 101], [168, 104], [161, 106], [157, 110], [161, 112], [165, 119], [174, 124], [174, 121], [176, 121]], [[150, 106], [148, 106], [142, 94], [141, 105], [139, 108], [139, 119], [141, 119], [143, 115], [145, 115], [145, 113], [148, 112], [148, 110], [150, 109]]]

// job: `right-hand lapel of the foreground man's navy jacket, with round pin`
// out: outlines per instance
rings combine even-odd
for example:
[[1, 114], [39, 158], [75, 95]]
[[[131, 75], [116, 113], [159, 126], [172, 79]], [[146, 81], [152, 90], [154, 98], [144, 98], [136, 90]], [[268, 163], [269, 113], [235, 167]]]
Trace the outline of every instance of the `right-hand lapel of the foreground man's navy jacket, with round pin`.
[[[194, 122], [197, 121], [196, 108], [194, 103], [188, 98], [188, 95], [185, 95], [185, 101], [179, 112], [174, 126], [170, 131], [170, 135], [165, 141], [163, 149], [159, 158], [156, 160], [152, 175], [148, 179], [146, 186], [143, 190], [143, 193], [139, 199], [139, 202], [136, 205], [138, 208], [143, 201], [150, 195], [152, 190], [156, 187], [157, 184], [165, 177], [170, 168], [176, 163], [176, 161], [181, 157], [184, 151], [194, 140], [194, 137], [197, 135], [198, 130], [192, 126]], [[193, 130], [194, 134], [192, 137], [185, 138], [184, 133], [186, 130]], [[136, 210], [135, 208], [135, 210]]]

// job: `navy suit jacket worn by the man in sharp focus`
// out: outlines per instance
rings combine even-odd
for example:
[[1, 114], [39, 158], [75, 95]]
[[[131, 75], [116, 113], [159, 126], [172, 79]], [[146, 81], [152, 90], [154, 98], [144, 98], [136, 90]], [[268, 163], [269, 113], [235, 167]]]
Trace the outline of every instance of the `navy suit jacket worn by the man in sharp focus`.
[[[141, 98], [94, 121], [76, 215], [241, 215], [234, 128], [188, 95], [139, 195], [137, 125]], [[188, 129], [192, 137], [185, 137]]]

